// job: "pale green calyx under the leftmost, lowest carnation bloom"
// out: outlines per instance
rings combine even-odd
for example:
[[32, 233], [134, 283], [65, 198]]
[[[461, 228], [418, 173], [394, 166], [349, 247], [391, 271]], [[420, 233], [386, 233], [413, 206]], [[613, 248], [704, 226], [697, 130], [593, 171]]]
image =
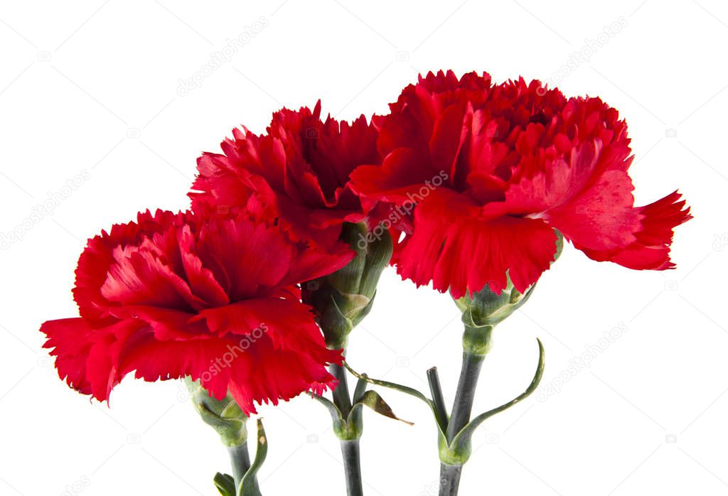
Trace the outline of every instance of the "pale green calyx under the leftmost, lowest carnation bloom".
[[218, 400], [211, 397], [198, 381], [186, 377], [185, 384], [194, 409], [207, 425], [217, 431], [226, 447], [238, 446], [248, 441], [248, 428], [245, 425], [248, 416], [230, 394]]

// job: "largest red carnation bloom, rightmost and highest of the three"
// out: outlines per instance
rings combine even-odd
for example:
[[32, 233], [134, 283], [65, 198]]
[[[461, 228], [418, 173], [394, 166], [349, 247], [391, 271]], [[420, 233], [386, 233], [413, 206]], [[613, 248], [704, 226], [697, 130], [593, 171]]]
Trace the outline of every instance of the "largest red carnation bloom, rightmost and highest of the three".
[[690, 218], [678, 193], [633, 206], [625, 121], [598, 98], [566, 99], [523, 79], [420, 77], [379, 128], [381, 166], [359, 167], [368, 201], [414, 206], [397, 271], [461, 297], [513, 281], [523, 292], [554, 259], [557, 233], [594, 260], [672, 268], [673, 228]]

